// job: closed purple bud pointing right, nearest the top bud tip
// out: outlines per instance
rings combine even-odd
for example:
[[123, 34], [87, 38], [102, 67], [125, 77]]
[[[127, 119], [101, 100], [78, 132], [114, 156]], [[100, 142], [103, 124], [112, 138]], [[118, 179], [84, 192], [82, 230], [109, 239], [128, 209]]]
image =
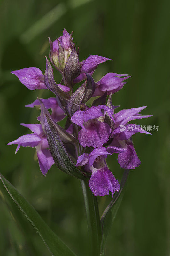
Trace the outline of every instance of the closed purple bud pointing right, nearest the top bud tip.
[[98, 56], [98, 55], [90, 55], [86, 60], [79, 62], [81, 67], [81, 73], [93, 72], [99, 64], [106, 62], [107, 60], [111, 60], [111, 59]]

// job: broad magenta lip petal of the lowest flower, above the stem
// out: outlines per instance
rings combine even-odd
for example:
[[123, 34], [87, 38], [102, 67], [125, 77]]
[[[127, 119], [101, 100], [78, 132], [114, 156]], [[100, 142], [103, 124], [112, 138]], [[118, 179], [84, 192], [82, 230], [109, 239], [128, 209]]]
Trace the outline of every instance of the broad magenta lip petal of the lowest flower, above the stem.
[[114, 175], [107, 167], [92, 169], [89, 187], [95, 196], [109, 195], [109, 190], [112, 192], [113, 196], [114, 192], [120, 189], [118, 180], [115, 179]]

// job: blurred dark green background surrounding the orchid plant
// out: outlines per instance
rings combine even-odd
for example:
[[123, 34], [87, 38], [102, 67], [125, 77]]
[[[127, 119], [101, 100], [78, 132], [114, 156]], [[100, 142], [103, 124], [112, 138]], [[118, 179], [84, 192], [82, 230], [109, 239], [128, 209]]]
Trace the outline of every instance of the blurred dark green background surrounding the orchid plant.
[[[53, 166], [44, 177], [35, 149], [9, 141], [28, 133], [22, 123], [36, 123], [38, 108], [24, 108], [37, 96], [12, 70], [35, 66], [45, 71], [48, 36], [55, 40], [63, 28], [80, 47], [80, 60], [91, 54], [112, 58], [94, 73], [98, 81], [107, 72], [130, 74], [114, 94], [121, 109], [147, 105], [149, 119], [136, 124], [159, 125], [153, 135], [133, 137], [141, 165], [130, 171], [126, 192], [107, 242], [107, 256], [168, 256], [170, 253], [170, 115], [169, 19], [170, 1], [111, 0], [1, 0], [0, 2], [0, 117], [1, 172], [35, 207], [42, 218], [77, 255], [88, 255], [87, 223], [81, 184]], [[60, 76], [56, 74], [56, 81]], [[123, 169], [116, 154], [108, 165], [116, 178]], [[99, 198], [102, 214], [111, 196]], [[49, 256], [41, 237], [20, 212], [0, 182], [0, 255]]]

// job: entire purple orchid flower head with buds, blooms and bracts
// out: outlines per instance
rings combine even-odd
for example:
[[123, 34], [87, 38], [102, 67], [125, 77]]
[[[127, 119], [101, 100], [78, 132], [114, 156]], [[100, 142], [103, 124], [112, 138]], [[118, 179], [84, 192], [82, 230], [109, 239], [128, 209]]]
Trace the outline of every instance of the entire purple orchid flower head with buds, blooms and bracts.
[[[59, 145], [62, 145], [70, 161], [74, 162], [74, 167], [85, 177], [90, 176], [89, 187], [94, 195], [108, 195], [109, 191], [113, 195], [115, 191], [119, 191], [120, 184], [107, 167], [106, 158], [108, 155], [118, 153], [120, 167], [125, 169], [138, 167], [140, 160], [131, 137], [137, 132], [151, 133], [135, 124], [130, 124], [134, 126], [134, 129], [130, 130], [128, 122], [151, 115], [140, 114], [146, 106], [123, 109], [114, 113], [117, 106], [112, 105], [112, 94], [119, 91], [127, 83], [124, 81], [130, 76], [107, 73], [98, 82], [92, 78], [97, 66], [111, 59], [91, 55], [86, 60], [79, 62], [79, 48], [76, 50], [72, 33], [70, 35], [65, 29], [63, 36], [54, 42], [49, 38], [49, 42], [50, 61], [62, 75], [62, 81], [60, 84], [55, 82], [53, 69], [47, 58], [44, 75], [39, 68], [35, 67], [11, 72], [28, 89], [48, 89], [55, 97], [37, 99], [26, 105], [30, 108], [40, 106], [41, 115], [37, 118], [40, 123], [21, 124], [28, 127], [33, 133], [23, 135], [8, 144], [18, 144], [16, 152], [20, 146], [35, 147], [40, 170], [43, 175], [46, 175], [54, 163], [58, 165], [54, 154], [60, 151], [58, 148], [54, 150], [54, 145], [51, 144], [51, 140], [47, 136], [45, 116], [49, 116], [60, 136], [61, 143]], [[85, 82], [81, 87], [73, 92], [73, 86], [83, 80]], [[106, 100], [107, 95], [109, 95], [108, 100]], [[89, 106], [88, 100], [95, 96], [99, 96], [99, 98], [95, 98], [92, 105]], [[51, 109], [51, 114], [48, 109]], [[67, 120], [65, 129], [63, 129], [57, 122], [65, 117]], [[71, 146], [74, 147], [75, 152], [72, 152]]]

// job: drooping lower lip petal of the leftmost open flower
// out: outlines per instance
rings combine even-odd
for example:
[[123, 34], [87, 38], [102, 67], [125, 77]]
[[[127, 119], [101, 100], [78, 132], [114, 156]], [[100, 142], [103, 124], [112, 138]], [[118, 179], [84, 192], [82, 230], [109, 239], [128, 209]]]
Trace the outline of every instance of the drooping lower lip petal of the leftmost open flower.
[[51, 166], [54, 164], [54, 160], [51, 156], [49, 149], [37, 151], [37, 158], [40, 166], [40, 170], [45, 176]]

